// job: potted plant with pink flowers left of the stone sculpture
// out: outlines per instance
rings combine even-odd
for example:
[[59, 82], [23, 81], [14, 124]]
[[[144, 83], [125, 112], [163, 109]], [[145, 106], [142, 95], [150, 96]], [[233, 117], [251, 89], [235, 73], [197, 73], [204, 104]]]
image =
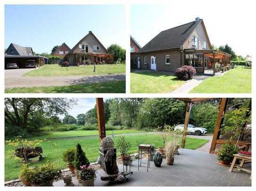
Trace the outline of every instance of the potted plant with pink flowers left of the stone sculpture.
[[80, 167], [79, 177], [83, 186], [94, 186], [96, 171], [93, 169], [91, 165], [83, 165]]

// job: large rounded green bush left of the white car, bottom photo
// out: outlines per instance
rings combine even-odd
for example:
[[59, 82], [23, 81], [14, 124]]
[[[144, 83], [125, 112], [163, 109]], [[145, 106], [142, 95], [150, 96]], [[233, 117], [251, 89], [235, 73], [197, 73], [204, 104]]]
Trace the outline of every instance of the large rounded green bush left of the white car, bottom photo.
[[136, 122], [138, 129], [156, 129], [158, 126], [184, 122], [185, 104], [173, 98], [148, 98], [139, 109]]

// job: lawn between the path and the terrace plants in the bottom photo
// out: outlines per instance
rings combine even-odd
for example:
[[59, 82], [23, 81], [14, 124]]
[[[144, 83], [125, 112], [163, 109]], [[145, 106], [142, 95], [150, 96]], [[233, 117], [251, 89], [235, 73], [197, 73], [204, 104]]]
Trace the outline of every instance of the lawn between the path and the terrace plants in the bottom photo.
[[[151, 143], [155, 144], [157, 147], [162, 146], [162, 140], [159, 135], [131, 135], [125, 136], [127, 140], [132, 144], [130, 153], [138, 152], [138, 144], [140, 143]], [[114, 138], [116, 142], [118, 137]], [[196, 149], [201, 145], [207, 143], [206, 139], [197, 139], [197, 138], [187, 138], [185, 148]], [[67, 168], [66, 163], [62, 161], [61, 155], [63, 151], [67, 148], [74, 148], [77, 143], [82, 145], [86, 156], [91, 162], [97, 160], [99, 153], [99, 138], [74, 138], [74, 139], [64, 139], [64, 140], [52, 140], [45, 141], [41, 144], [43, 148], [43, 155], [45, 156], [45, 161], [53, 161], [55, 166], [58, 168]], [[11, 146], [5, 145], [5, 153], [11, 149]], [[119, 153], [117, 154], [119, 156]], [[41, 162], [32, 162], [30, 165], [34, 166], [40, 164]], [[5, 180], [15, 179], [19, 175], [21, 168], [21, 163], [14, 159], [9, 159], [5, 157]]]

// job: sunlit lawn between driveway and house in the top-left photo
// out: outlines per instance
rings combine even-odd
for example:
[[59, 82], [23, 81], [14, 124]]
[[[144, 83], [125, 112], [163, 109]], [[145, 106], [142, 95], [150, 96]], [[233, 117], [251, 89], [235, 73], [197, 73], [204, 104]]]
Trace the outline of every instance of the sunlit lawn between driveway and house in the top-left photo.
[[125, 64], [96, 65], [95, 72], [93, 72], [93, 65], [60, 67], [58, 64], [47, 64], [42, 68], [25, 73], [24, 76], [89, 76], [124, 73]]

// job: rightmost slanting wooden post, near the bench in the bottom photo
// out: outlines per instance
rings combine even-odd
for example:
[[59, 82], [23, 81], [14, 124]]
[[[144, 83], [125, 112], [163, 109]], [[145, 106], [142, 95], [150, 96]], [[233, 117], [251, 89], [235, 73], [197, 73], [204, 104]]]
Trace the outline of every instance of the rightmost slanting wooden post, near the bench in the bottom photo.
[[216, 121], [216, 125], [215, 125], [214, 136], [213, 136], [213, 140], [212, 140], [210, 153], [212, 153], [212, 151], [215, 150], [216, 141], [218, 139], [218, 135], [220, 132], [220, 127], [221, 127], [221, 123], [223, 120], [223, 115], [225, 114], [226, 107], [227, 107], [227, 98], [222, 98], [221, 105], [219, 108], [219, 115], [217, 117], [217, 121]]

